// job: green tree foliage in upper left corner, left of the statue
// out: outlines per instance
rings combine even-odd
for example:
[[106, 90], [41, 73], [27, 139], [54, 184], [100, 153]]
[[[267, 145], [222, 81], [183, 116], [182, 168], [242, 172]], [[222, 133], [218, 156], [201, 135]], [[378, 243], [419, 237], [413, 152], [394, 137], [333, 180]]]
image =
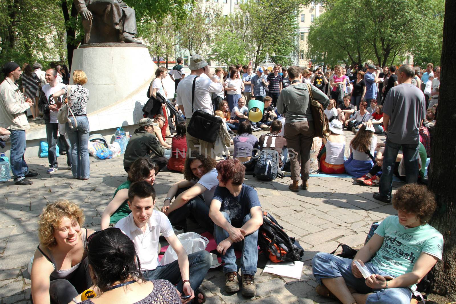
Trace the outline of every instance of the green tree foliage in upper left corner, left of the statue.
[[58, 5], [47, 0], [0, 0], [0, 62], [64, 60]]

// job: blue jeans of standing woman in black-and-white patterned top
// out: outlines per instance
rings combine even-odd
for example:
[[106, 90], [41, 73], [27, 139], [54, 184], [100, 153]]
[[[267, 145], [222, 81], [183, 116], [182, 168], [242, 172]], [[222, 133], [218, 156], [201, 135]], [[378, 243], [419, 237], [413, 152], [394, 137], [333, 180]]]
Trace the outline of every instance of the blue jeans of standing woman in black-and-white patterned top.
[[[74, 125], [73, 116], [70, 115], [69, 119]], [[71, 170], [73, 171], [74, 178], [89, 178], [90, 176], [90, 160], [88, 156], [88, 133], [90, 127], [88, 125], [87, 116], [77, 116], [78, 127], [70, 129], [68, 123], [65, 124], [67, 128], [68, 139], [71, 145], [71, 163], [73, 164]], [[70, 151], [68, 151], [69, 153]]]

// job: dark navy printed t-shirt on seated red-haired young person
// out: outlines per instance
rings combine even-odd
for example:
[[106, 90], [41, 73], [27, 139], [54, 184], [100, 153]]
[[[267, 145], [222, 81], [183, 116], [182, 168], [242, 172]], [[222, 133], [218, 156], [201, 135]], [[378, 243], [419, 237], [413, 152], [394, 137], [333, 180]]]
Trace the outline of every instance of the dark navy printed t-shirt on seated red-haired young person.
[[215, 189], [214, 200], [222, 203], [220, 211], [226, 212], [231, 220], [233, 227], [242, 227], [244, 217], [250, 213], [250, 209], [259, 206], [258, 194], [253, 187], [242, 184], [241, 193], [233, 196], [227, 188], [217, 186]]

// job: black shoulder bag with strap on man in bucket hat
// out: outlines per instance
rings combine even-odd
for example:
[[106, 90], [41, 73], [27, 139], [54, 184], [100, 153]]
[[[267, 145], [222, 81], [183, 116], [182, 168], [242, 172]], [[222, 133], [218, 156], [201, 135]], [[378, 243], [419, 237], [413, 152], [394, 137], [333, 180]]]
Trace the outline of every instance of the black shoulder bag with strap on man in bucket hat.
[[213, 114], [206, 113], [202, 110], [196, 110], [193, 112], [193, 103], [195, 101], [195, 81], [199, 76], [193, 79], [192, 85], [192, 118], [187, 127], [188, 134], [193, 137], [207, 141], [209, 143], [215, 143], [217, 140], [218, 130], [222, 124], [222, 119], [214, 116]]

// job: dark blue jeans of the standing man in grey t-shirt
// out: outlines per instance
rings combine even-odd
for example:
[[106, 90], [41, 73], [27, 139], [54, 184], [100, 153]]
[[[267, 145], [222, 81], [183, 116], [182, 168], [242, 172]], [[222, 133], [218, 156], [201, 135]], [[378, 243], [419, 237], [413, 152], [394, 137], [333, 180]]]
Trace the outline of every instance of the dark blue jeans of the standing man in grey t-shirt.
[[405, 165], [405, 182], [416, 183], [418, 181], [419, 163], [418, 154], [419, 144], [396, 144], [391, 142], [388, 137], [385, 142], [385, 152], [383, 154], [382, 176], [380, 177], [379, 190], [381, 196], [391, 198], [393, 188], [394, 163], [402, 146]]

